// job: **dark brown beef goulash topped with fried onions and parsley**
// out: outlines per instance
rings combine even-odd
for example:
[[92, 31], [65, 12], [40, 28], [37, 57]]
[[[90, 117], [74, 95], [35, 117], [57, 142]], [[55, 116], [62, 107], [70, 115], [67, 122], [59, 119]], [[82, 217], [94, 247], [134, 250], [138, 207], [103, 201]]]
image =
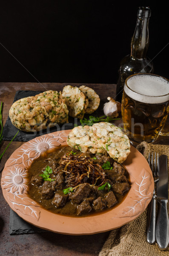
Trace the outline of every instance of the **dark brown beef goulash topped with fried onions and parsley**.
[[29, 169], [29, 196], [57, 214], [84, 216], [111, 209], [130, 189], [129, 174], [108, 154], [69, 146], [38, 158]]

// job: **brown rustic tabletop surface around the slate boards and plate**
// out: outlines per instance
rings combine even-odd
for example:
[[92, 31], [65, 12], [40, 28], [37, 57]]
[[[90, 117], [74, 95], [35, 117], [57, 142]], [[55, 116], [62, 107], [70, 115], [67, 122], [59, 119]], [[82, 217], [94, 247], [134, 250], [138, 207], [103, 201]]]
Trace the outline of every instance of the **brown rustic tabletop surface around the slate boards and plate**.
[[[3, 101], [3, 125], [9, 114], [14, 96], [18, 90], [62, 90], [68, 83], [0, 83], [0, 102]], [[82, 84], [71, 84], [80, 86]], [[100, 96], [100, 106], [97, 111], [103, 115], [103, 104], [108, 96], [115, 96], [115, 84], [85, 84], [92, 87]], [[120, 117], [120, 116], [119, 116]], [[116, 125], [121, 126], [122, 120], [116, 120]], [[9, 141], [3, 141], [0, 152], [6, 148]], [[169, 137], [159, 137], [156, 143], [169, 144]], [[0, 162], [0, 171], [6, 160], [23, 142], [13, 141]], [[1, 172], [2, 173], [2, 172]], [[1, 176], [0, 176], [1, 177]], [[3, 198], [0, 189], [0, 256], [96, 256], [99, 254], [109, 232], [89, 236], [70, 236], [57, 233], [34, 233], [25, 235], [9, 235], [10, 207]]]

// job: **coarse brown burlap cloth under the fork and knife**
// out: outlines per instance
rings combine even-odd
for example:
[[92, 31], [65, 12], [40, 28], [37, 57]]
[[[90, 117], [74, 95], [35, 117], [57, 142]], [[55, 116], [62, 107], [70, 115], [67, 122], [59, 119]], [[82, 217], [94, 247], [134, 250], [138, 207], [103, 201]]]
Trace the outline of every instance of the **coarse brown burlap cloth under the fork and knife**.
[[[137, 146], [137, 149], [146, 159], [148, 158], [149, 152], [158, 152], [159, 156], [166, 154], [168, 156], [169, 169], [168, 145], [153, 145], [143, 142]], [[158, 248], [156, 242], [149, 244], [146, 241], [147, 212], [148, 209], [146, 208], [134, 221], [116, 230], [112, 230], [99, 256], [169, 256], [169, 247], [165, 251], [162, 251]]]

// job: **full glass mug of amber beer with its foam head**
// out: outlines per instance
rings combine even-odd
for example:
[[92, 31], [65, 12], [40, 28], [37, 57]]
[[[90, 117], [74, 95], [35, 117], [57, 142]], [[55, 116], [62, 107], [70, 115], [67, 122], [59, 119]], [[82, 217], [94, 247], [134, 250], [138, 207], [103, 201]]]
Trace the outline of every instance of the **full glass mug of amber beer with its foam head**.
[[122, 119], [131, 144], [155, 141], [169, 113], [169, 80], [158, 75], [138, 73], [124, 84]]

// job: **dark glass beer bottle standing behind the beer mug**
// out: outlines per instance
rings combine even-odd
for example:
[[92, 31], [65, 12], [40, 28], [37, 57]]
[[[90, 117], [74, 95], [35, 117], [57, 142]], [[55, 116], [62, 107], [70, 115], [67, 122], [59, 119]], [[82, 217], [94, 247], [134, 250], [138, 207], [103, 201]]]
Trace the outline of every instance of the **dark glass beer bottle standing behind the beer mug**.
[[125, 56], [120, 62], [118, 70], [118, 81], [116, 89], [116, 101], [121, 102], [123, 87], [128, 76], [135, 73], [153, 73], [153, 63], [146, 57], [149, 47], [149, 7], [139, 7], [137, 12], [137, 23], [131, 41], [131, 55]]

